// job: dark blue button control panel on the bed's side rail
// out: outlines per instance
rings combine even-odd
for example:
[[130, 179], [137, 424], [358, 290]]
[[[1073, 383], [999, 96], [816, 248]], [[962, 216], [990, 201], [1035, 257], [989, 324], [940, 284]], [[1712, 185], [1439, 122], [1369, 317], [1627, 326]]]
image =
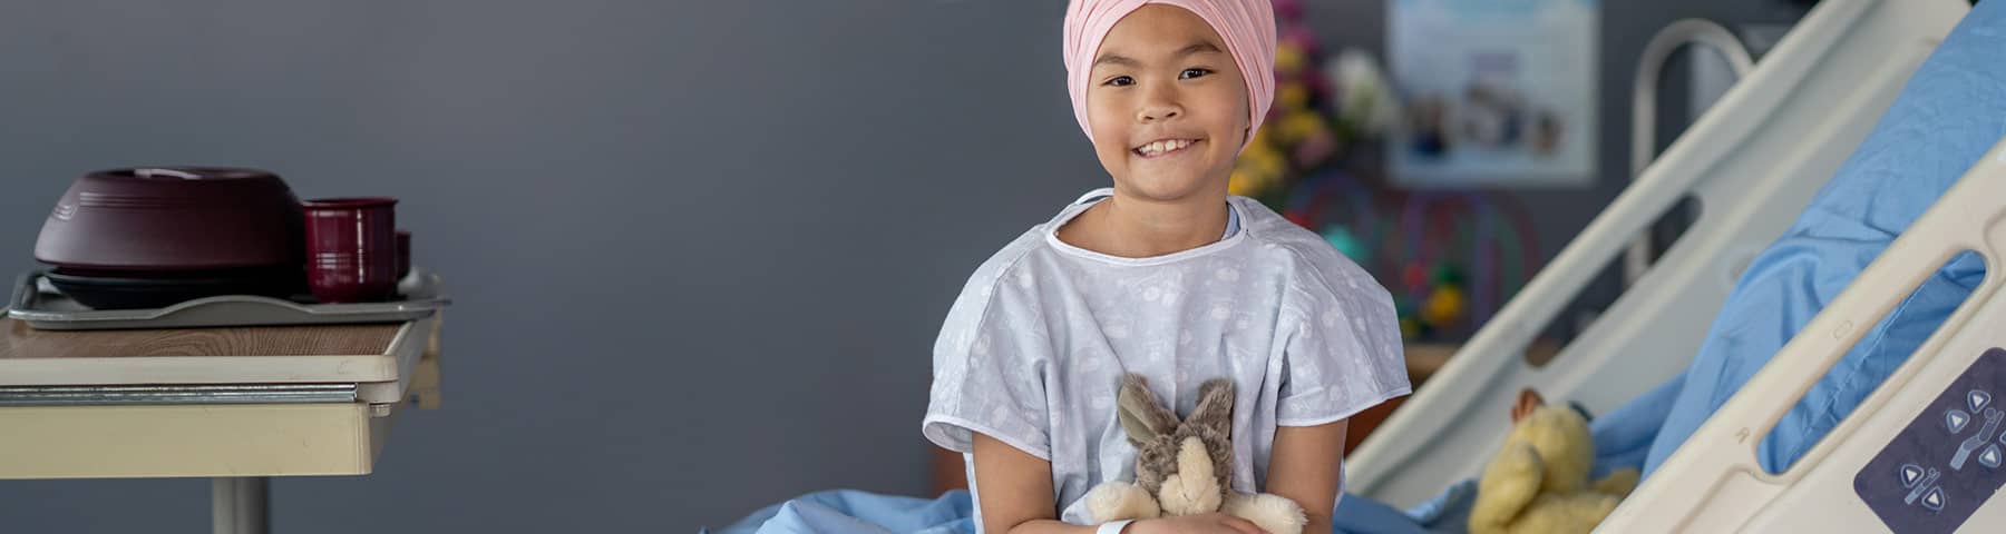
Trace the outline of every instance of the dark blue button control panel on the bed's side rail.
[[2006, 486], [2006, 350], [1990, 348], [1854, 474], [1894, 532], [1956, 532]]

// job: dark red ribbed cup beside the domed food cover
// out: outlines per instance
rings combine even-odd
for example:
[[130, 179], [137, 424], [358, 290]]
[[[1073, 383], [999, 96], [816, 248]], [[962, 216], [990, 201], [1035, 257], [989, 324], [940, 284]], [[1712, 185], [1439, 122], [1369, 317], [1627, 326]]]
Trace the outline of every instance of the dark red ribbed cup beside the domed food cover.
[[307, 214], [307, 286], [321, 302], [375, 302], [397, 290], [397, 200], [317, 198]]

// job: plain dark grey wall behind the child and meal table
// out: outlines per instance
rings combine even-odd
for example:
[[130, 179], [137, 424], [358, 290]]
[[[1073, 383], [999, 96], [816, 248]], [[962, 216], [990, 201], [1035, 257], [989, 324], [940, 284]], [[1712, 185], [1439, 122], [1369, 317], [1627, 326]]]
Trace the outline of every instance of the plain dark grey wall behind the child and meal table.
[[[1605, 4], [1605, 180], [1527, 196], [1547, 254], [1619, 188], [1613, 94], [1649, 30], [1769, 16], [1743, 4]], [[688, 532], [818, 488], [919, 494], [961, 280], [1105, 184], [1055, 0], [0, 10], [8, 272], [76, 174], [201, 162], [399, 196], [447, 276], [445, 408], [373, 476], [275, 482], [281, 532]], [[1312, 10], [1376, 48], [1378, 2]], [[205, 532], [207, 492], [0, 482], [0, 530]]]

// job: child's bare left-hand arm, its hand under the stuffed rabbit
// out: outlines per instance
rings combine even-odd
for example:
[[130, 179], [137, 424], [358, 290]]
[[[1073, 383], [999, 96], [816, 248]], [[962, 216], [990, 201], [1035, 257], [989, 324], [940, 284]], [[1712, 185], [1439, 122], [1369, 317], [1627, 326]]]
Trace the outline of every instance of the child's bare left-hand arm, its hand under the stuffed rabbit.
[[[1338, 438], [1338, 442], [1344, 442]], [[1095, 534], [1097, 526], [1059, 522], [1057, 496], [1051, 494], [1051, 462], [975, 432], [975, 480], [981, 486], [983, 532], [995, 534]], [[1330, 506], [1324, 506], [1330, 508]], [[1330, 516], [1330, 512], [1324, 512]], [[1330, 532], [1330, 522], [1324, 522]], [[1139, 520], [1123, 534], [1149, 532], [1244, 532], [1258, 534], [1252, 522], [1226, 514], [1182, 516], [1172, 520]]]

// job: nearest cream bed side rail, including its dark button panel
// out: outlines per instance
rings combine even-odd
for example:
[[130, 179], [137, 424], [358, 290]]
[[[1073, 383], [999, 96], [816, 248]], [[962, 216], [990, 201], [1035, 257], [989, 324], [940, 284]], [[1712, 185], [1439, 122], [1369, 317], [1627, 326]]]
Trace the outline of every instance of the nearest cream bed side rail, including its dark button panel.
[[[1767, 474], [1755, 460], [1763, 434], [1868, 326], [1960, 252], [1984, 258], [1984, 284], [1797, 464]], [[1707, 418], [1599, 532], [1848, 532], [1884, 518], [1906, 520], [1902, 528], [1914, 532], [2006, 524], [2006, 504], [1986, 502], [2006, 482], [2002, 258], [2006, 140]]]

